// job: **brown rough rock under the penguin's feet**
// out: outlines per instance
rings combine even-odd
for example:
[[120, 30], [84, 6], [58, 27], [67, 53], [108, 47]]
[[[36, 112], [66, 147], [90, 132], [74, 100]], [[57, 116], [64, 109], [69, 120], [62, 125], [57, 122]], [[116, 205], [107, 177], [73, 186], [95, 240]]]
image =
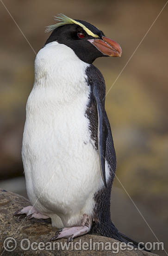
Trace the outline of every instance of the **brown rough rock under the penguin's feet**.
[[[2, 256], [76, 256], [76, 255], [116, 255], [117, 247], [121, 243], [109, 237], [85, 235], [75, 238], [72, 243], [66, 243], [67, 239], [60, 239], [54, 242], [49, 242], [50, 238], [55, 235], [56, 228], [51, 226], [50, 220], [29, 220], [18, 219], [13, 217], [13, 213], [25, 206], [30, 205], [30, 202], [23, 196], [7, 192], [0, 189], [0, 255]], [[10, 237], [8, 239], [8, 237]], [[6, 239], [6, 242], [4, 243]], [[15, 240], [14, 240], [15, 239]], [[24, 240], [23, 240], [24, 239]], [[9, 242], [10, 240], [10, 242]], [[16, 241], [16, 248], [15, 247]], [[30, 242], [29, 242], [30, 241]], [[33, 243], [35, 242], [35, 243]], [[40, 243], [41, 242], [41, 243]], [[78, 242], [78, 243], [76, 243]], [[95, 242], [100, 243], [98, 250]], [[55, 244], [55, 248], [54, 248]], [[63, 246], [69, 246], [69, 249], [63, 249]], [[6, 249], [4, 249], [6, 247]], [[60, 247], [60, 248], [59, 248]], [[92, 248], [91, 248], [92, 247]], [[89, 250], [89, 248], [91, 248]], [[96, 249], [96, 250], [95, 250]], [[106, 250], [105, 250], [106, 249]], [[11, 250], [11, 251], [9, 251]], [[140, 251], [140, 250], [121, 250], [119, 249], [118, 256], [156, 256], [155, 254]]]

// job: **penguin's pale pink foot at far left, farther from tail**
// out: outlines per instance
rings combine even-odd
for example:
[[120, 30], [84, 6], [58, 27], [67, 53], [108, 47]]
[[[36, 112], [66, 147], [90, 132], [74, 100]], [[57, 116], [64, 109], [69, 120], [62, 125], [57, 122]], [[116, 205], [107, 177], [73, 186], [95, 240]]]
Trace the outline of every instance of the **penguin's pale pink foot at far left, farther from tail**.
[[24, 207], [20, 210], [17, 210], [13, 214], [13, 216], [19, 217], [19, 219], [26, 218], [26, 220], [31, 220], [33, 218], [35, 218], [35, 219], [49, 219], [50, 218], [49, 216], [38, 212], [37, 209], [32, 205]]

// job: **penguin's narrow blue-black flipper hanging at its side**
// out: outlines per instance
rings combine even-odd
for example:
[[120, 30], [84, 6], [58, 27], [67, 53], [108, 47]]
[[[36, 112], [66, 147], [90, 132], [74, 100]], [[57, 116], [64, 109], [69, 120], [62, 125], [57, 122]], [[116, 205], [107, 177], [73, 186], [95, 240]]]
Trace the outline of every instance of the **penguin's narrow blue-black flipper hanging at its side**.
[[106, 126], [106, 122], [104, 120], [104, 107], [100, 101], [100, 90], [99, 87], [94, 85], [93, 86], [93, 96], [94, 101], [97, 107], [98, 113], [98, 152], [99, 152], [99, 159], [100, 159], [100, 168], [101, 168], [101, 175], [105, 186], [106, 184], [106, 172], [105, 172], [105, 157], [106, 157], [106, 139], [108, 136], [108, 128]]

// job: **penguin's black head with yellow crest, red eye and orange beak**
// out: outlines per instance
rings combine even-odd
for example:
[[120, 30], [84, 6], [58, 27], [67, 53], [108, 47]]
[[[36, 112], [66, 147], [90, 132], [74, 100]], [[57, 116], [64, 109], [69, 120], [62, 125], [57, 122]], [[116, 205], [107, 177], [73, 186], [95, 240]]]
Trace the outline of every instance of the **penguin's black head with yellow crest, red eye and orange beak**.
[[122, 50], [119, 44], [90, 23], [73, 20], [63, 14], [55, 16], [60, 21], [48, 26], [46, 32], [52, 32], [45, 45], [57, 41], [70, 47], [81, 61], [92, 64], [99, 57], [120, 57]]

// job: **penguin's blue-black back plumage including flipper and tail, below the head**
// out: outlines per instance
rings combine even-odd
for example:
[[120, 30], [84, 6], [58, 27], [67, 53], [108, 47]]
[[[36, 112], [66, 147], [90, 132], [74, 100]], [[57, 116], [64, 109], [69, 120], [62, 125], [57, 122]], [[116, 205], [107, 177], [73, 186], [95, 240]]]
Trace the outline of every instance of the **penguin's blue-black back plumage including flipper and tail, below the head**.
[[106, 187], [103, 186], [94, 195], [96, 203], [93, 209], [93, 226], [90, 233], [112, 237], [125, 243], [131, 242], [134, 247], [137, 247], [138, 243], [120, 233], [111, 221], [110, 198], [112, 182], [116, 171], [116, 154], [112, 140], [111, 127], [105, 110], [106, 85], [99, 69], [93, 65], [87, 67], [86, 74], [87, 84], [91, 88], [86, 115], [90, 123], [91, 139], [94, 141], [95, 149], [99, 151], [102, 178], [105, 182], [105, 156], [110, 170], [110, 177], [108, 182], [106, 182]]

